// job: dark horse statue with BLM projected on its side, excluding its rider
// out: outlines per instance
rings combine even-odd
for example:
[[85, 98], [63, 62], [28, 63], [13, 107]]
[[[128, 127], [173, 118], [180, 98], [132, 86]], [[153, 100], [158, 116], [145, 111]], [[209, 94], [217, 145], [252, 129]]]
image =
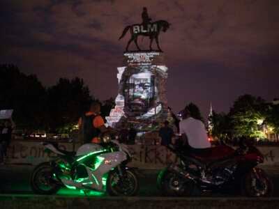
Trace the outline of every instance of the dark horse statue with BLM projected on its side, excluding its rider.
[[139, 51], [141, 51], [139, 45], [137, 45], [137, 37], [138, 36], [149, 36], [150, 39], [150, 45], [149, 45], [149, 49], [152, 49], [152, 42], [153, 39], [155, 38], [156, 43], [157, 43], [157, 47], [160, 50], [160, 52], [163, 52], [162, 49], [160, 49], [160, 45], [159, 45], [159, 41], [158, 41], [158, 36], [160, 34], [160, 31], [167, 31], [167, 29], [169, 29], [170, 24], [165, 21], [165, 20], [158, 20], [156, 22], [151, 22], [149, 24], [133, 24], [130, 26], [126, 26], [126, 28], [123, 30], [122, 35], [119, 37], [119, 40], [121, 38], [123, 38], [127, 31], [130, 29], [130, 34], [131, 34], [131, 38], [128, 41], [128, 44], [126, 46], [126, 51], [128, 51], [128, 47], [130, 45], [130, 42], [134, 41], [135, 45], [137, 46], [137, 49]]

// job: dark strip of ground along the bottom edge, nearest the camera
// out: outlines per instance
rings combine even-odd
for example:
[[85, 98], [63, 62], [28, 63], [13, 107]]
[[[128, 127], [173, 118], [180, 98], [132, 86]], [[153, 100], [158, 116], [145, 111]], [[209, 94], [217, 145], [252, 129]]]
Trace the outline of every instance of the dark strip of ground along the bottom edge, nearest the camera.
[[0, 208], [278, 208], [278, 198], [177, 198], [177, 197], [86, 197], [0, 195]]

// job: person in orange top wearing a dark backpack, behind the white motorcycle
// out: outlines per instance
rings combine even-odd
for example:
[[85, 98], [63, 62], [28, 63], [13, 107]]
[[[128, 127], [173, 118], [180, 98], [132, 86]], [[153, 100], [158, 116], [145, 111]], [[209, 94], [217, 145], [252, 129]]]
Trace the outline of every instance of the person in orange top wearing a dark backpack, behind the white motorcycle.
[[100, 103], [92, 102], [89, 111], [87, 111], [78, 122], [81, 130], [84, 144], [96, 143], [100, 144], [100, 134], [108, 132], [109, 129], [105, 127], [105, 121], [100, 116]]

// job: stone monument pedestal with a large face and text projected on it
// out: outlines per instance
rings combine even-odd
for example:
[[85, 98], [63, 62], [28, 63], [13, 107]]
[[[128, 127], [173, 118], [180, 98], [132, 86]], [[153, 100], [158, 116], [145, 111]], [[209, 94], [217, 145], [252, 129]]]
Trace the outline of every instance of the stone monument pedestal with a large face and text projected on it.
[[167, 67], [162, 52], [127, 52], [117, 68], [119, 92], [107, 125], [153, 132], [168, 118]]

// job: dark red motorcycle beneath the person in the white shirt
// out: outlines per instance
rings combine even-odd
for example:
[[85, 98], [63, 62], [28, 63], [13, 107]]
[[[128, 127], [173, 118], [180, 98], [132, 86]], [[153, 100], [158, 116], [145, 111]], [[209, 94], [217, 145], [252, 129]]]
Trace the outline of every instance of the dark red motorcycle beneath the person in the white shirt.
[[181, 150], [169, 146], [179, 158], [158, 174], [157, 186], [167, 196], [197, 196], [203, 192], [271, 196], [273, 183], [257, 164], [264, 156], [250, 143]]

